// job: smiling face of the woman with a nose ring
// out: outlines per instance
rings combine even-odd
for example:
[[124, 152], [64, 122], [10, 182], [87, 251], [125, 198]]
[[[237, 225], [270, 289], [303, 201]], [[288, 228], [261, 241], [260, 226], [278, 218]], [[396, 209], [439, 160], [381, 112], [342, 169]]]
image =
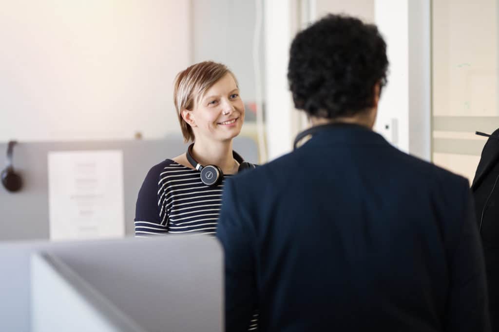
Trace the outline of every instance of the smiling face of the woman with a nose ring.
[[[241, 132], [245, 106], [234, 77], [227, 73], [187, 111], [196, 140], [230, 140]], [[184, 116], [186, 119], [186, 116]]]

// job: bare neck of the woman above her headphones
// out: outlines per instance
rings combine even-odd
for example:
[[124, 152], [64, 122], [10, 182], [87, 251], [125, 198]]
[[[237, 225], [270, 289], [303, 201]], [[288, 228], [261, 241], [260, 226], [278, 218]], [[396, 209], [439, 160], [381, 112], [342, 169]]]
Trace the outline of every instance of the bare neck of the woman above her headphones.
[[227, 142], [196, 141], [192, 154], [201, 165], [217, 165], [224, 174], [237, 173], [239, 165], [232, 154], [232, 140]]

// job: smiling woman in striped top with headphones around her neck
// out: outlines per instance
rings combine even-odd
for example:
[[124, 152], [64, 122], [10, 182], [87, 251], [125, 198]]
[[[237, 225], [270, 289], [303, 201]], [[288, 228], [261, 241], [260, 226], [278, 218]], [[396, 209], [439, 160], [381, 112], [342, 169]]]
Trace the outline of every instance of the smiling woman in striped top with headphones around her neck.
[[195, 143], [147, 174], [137, 199], [136, 236], [214, 234], [225, 179], [254, 167], [232, 150], [245, 106], [225, 65], [205, 61], [188, 67], [177, 75], [173, 97], [184, 139]]

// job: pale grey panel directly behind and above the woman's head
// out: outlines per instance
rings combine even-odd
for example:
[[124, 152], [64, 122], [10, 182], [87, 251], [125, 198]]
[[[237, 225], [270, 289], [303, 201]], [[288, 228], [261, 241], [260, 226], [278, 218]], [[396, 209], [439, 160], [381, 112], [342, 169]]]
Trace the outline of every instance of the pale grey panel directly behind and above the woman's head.
[[[256, 139], [257, 97], [264, 99], [265, 91], [263, 9], [247, 0], [193, 0], [191, 3], [193, 63], [213, 60], [234, 72], [246, 107], [241, 134]], [[245, 13], [243, 17], [241, 13]], [[255, 30], [259, 32], [257, 35]], [[254, 59], [254, 52], [258, 59]], [[258, 60], [258, 69], [255, 60]]]

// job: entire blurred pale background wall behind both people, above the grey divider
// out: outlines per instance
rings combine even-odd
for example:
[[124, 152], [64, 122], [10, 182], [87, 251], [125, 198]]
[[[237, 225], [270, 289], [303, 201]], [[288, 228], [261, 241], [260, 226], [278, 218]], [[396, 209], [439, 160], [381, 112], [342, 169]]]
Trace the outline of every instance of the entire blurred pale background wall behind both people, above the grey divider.
[[[473, 178], [499, 126], [496, 0], [0, 0], [0, 141], [180, 135], [175, 75], [215, 60], [237, 75], [260, 162], [306, 127], [287, 91], [294, 34], [328, 12], [378, 25], [389, 84], [375, 129]], [[257, 111], [262, 121], [257, 125]], [[264, 151], [263, 151], [264, 150]]]

